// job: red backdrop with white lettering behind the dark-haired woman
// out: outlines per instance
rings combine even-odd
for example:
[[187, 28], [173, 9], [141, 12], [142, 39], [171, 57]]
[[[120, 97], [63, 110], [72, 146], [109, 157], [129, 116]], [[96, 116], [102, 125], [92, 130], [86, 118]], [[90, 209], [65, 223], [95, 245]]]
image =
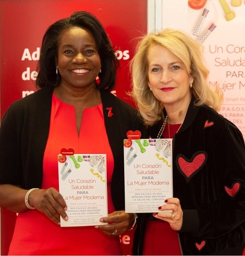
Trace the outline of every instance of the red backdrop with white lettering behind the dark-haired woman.
[[[147, 31], [147, 0], [1, 0], [0, 88], [1, 117], [10, 104], [36, 90], [36, 64], [45, 29], [77, 10], [95, 14], [104, 24], [120, 60], [115, 92], [132, 104], [129, 61], [138, 36]], [[132, 104], [133, 105], [133, 104]], [[8, 253], [15, 214], [1, 209], [1, 254]], [[132, 232], [121, 237], [124, 255], [130, 255]]]

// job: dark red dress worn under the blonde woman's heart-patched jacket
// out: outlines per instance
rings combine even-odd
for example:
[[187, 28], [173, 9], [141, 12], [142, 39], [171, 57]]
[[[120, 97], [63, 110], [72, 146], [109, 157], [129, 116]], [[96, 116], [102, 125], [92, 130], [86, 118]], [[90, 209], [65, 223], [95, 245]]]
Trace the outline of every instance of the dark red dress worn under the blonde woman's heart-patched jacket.
[[[162, 135], [164, 138], [173, 138], [178, 129], [180, 124], [166, 124]], [[182, 255], [178, 233], [166, 221], [148, 220], [143, 244], [143, 255]]]

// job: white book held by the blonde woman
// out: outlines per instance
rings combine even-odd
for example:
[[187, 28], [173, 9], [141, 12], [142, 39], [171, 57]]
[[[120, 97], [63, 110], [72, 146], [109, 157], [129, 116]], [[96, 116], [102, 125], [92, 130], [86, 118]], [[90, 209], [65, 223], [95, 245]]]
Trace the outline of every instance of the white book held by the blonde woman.
[[123, 145], [125, 212], [159, 212], [173, 197], [172, 139], [124, 140]]

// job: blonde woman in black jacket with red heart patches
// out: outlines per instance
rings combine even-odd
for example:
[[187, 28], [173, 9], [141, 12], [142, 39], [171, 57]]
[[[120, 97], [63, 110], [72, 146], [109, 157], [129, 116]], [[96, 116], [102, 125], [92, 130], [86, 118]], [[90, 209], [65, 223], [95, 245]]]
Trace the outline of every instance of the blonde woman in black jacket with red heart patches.
[[202, 47], [182, 31], [152, 33], [131, 68], [132, 97], [150, 136], [173, 138], [173, 198], [139, 216], [133, 253], [241, 255], [244, 139], [217, 113], [222, 93], [207, 84]]

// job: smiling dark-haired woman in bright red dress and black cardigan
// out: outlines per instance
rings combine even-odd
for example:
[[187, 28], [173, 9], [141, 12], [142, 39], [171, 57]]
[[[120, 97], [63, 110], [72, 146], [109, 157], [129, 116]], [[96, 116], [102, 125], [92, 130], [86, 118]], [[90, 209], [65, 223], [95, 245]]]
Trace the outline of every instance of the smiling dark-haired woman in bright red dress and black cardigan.
[[[144, 125], [136, 109], [110, 92], [117, 68], [91, 13], [75, 12], [47, 29], [39, 90], [10, 106], [0, 129], [0, 207], [19, 212], [10, 255], [122, 255], [118, 235], [135, 222], [123, 211], [123, 139], [130, 130], [143, 133]], [[60, 218], [68, 220], [58, 185], [61, 148], [106, 154], [104, 225], [60, 227]]]

